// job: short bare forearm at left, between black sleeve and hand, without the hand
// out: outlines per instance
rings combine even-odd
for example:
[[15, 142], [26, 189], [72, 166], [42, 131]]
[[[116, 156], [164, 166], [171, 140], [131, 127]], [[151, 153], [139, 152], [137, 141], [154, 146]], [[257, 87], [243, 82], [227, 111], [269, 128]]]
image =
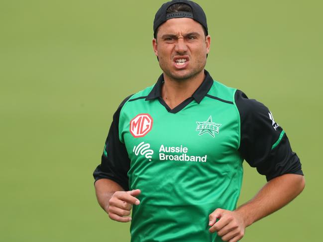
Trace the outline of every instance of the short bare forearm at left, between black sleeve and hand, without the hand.
[[107, 211], [108, 201], [116, 191], [124, 191], [116, 182], [110, 179], [100, 179], [95, 182], [96, 195], [100, 206]]

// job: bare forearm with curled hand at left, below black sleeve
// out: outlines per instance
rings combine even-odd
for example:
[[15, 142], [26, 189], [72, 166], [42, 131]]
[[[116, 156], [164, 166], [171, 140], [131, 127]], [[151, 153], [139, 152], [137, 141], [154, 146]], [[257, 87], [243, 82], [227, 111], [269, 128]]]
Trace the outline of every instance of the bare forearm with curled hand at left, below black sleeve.
[[140, 190], [124, 191], [116, 182], [110, 179], [100, 179], [95, 182], [96, 195], [100, 206], [108, 213], [110, 219], [118, 222], [129, 222], [132, 204], [140, 201], [135, 196]]

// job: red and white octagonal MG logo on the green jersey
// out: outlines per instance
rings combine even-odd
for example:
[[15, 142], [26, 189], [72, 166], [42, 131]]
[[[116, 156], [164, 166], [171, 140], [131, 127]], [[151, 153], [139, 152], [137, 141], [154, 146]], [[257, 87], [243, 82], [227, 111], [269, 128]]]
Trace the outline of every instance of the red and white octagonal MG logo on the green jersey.
[[141, 113], [130, 121], [130, 133], [134, 138], [144, 137], [152, 128], [152, 117], [148, 113]]

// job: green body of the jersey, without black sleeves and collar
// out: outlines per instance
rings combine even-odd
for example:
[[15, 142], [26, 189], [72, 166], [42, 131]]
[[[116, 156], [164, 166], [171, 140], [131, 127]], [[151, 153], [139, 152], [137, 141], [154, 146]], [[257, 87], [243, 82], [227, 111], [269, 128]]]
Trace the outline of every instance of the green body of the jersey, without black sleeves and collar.
[[[208, 94], [233, 102], [235, 90], [214, 81]], [[141, 113], [152, 117], [152, 129], [134, 138], [129, 124]], [[158, 99], [128, 100], [120, 112], [119, 139], [131, 160], [129, 188], [141, 189], [140, 205], [132, 208], [131, 242], [221, 242], [208, 231], [209, 214], [236, 208], [243, 174], [235, 104], [205, 96], [170, 113]], [[141, 154], [144, 144], [149, 147]], [[149, 150], [151, 159], [145, 156]]]

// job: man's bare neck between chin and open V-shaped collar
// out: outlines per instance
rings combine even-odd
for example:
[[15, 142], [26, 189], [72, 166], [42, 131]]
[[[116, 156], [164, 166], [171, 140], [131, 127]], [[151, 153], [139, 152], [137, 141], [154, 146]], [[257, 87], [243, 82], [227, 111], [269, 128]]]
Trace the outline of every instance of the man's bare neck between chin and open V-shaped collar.
[[162, 86], [162, 98], [166, 104], [173, 109], [184, 100], [191, 97], [204, 79], [204, 70], [196, 76], [185, 80], [175, 80], [164, 73], [165, 82]]

